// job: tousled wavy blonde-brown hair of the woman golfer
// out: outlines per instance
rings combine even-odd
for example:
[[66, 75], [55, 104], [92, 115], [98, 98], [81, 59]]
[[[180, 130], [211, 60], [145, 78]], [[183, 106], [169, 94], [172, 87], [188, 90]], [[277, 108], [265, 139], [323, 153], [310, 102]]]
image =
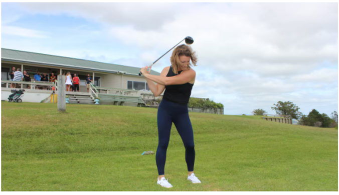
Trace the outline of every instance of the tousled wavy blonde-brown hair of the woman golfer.
[[[181, 65], [181, 61], [179, 57], [181, 55], [185, 55], [188, 57], [191, 57], [191, 61], [194, 66], [197, 65], [198, 58], [196, 55], [196, 52], [192, 50], [192, 47], [190, 45], [186, 44], [181, 44], [177, 46], [171, 56], [171, 64], [172, 64], [172, 69], [175, 74], [178, 74], [178, 66]], [[192, 64], [189, 62], [186, 64], [186, 69], [191, 69]]]

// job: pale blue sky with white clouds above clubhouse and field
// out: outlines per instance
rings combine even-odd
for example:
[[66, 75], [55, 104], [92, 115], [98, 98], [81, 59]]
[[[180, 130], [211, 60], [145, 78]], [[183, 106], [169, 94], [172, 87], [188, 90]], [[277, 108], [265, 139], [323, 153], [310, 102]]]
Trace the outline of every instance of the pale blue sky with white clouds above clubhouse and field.
[[141, 67], [189, 35], [192, 96], [222, 102], [225, 114], [274, 114], [273, 103], [292, 101], [330, 115], [337, 13], [337, 3], [2, 3], [2, 47]]

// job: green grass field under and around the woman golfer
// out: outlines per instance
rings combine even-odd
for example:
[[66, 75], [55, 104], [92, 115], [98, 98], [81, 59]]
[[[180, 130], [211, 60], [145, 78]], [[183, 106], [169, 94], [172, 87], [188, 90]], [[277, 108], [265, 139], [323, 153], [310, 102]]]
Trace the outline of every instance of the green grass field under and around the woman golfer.
[[195, 173], [173, 125], [165, 176], [156, 184], [154, 108], [2, 102], [3, 191], [337, 191], [337, 129], [261, 116], [190, 112]]

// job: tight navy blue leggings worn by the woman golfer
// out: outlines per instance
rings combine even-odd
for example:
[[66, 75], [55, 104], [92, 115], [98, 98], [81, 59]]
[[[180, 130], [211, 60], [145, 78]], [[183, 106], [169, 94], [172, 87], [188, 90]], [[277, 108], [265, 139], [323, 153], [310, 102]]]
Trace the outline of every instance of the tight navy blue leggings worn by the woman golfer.
[[187, 104], [174, 103], [162, 99], [157, 113], [159, 143], [155, 155], [159, 175], [164, 174], [166, 151], [170, 141], [172, 122], [176, 125], [186, 148], [185, 159], [188, 171], [193, 171], [194, 169], [196, 152], [194, 150], [193, 128]]

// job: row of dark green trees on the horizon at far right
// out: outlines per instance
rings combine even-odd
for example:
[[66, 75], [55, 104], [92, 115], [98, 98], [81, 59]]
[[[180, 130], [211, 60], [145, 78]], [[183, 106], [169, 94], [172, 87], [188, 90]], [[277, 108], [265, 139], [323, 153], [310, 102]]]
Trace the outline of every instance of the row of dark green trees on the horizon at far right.
[[[331, 116], [325, 113], [320, 114], [316, 109], [312, 109], [308, 115], [298, 111], [300, 108], [290, 101], [278, 101], [271, 107], [278, 115], [290, 115], [292, 118], [298, 120], [298, 124], [316, 127], [338, 127], [338, 113], [333, 111]], [[263, 109], [255, 109], [252, 111], [253, 115], [264, 115], [267, 112]], [[244, 115], [244, 114], [243, 114]]]

